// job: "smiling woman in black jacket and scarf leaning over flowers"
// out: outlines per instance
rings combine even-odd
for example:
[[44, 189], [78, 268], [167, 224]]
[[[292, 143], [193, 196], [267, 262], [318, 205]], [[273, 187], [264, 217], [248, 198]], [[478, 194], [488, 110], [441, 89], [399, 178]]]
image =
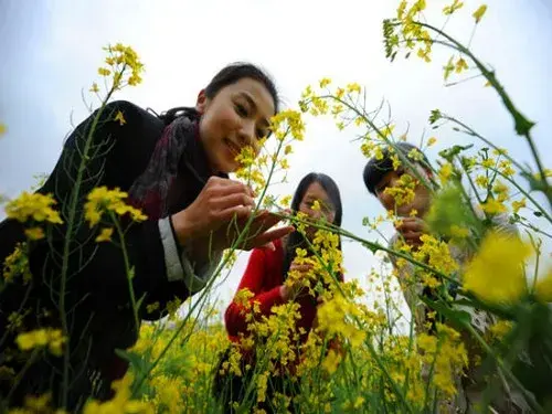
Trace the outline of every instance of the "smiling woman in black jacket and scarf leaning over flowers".
[[[84, 223], [82, 215], [86, 194], [102, 185], [119, 188], [128, 192], [128, 203], [147, 214], [144, 222], [123, 224], [129, 226], [125, 245], [134, 296], [141, 300], [139, 318], [158, 319], [166, 315], [168, 302], [184, 300], [208, 284], [222, 251], [236, 236], [234, 220], [240, 230], [252, 214], [252, 190], [227, 173], [238, 168], [235, 158], [245, 146], [258, 153], [258, 140], [269, 134], [269, 119], [277, 110], [274, 83], [251, 64], [224, 67], [199, 93], [194, 108], [157, 117], [127, 102], [107, 105], [93, 137], [78, 193], [81, 221], [70, 245], [63, 296], [70, 327], [68, 375], [61, 374], [62, 358], [45, 354], [33, 363], [29, 355], [14, 358], [19, 331], [9, 319], [12, 312], [24, 315], [20, 325], [24, 331], [61, 327], [59, 275], [66, 227], [59, 225], [47, 242], [33, 244], [32, 283], [10, 283], [0, 293], [0, 365], [10, 367], [15, 375], [28, 365], [15, 381], [0, 380], [0, 403], [10, 400], [12, 405], [25, 394], [53, 391], [59, 404], [76, 410], [91, 394], [109, 397], [112, 381], [127, 370], [115, 350], [132, 346], [138, 331], [120, 241], [114, 236], [114, 243], [95, 243], [98, 230]], [[39, 190], [54, 194], [63, 219], [96, 114], [68, 137], [54, 171]], [[278, 221], [258, 213], [251, 227], [256, 236], [241, 247], [261, 246], [293, 231], [267, 231]], [[0, 261], [4, 263], [24, 241], [24, 224], [11, 219], [0, 223]], [[146, 311], [156, 306], [158, 311]], [[63, 380], [71, 384], [68, 394], [62, 390]]]

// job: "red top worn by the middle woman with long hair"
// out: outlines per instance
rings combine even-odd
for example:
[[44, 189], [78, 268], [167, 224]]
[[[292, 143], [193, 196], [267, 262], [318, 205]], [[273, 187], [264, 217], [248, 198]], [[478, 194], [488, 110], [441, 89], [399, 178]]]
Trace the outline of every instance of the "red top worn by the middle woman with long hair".
[[[270, 315], [273, 306], [282, 305], [286, 301], [280, 295], [280, 287], [284, 284], [284, 276], [282, 274], [284, 248], [282, 241], [275, 241], [274, 246], [274, 251], [266, 247], [253, 250], [247, 268], [237, 288], [237, 291], [245, 288], [250, 289], [254, 295], [250, 301], [257, 301], [261, 314], [266, 316]], [[300, 319], [297, 320], [297, 328], [302, 327], [306, 330], [307, 333], [302, 338], [305, 341], [316, 316], [316, 298], [305, 295], [296, 299], [296, 301], [300, 306], [299, 312], [301, 315]], [[248, 333], [247, 322], [245, 321], [246, 312], [247, 310], [234, 300], [226, 309], [224, 315], [226, 331], [230, 339], [234, 342], [237, 342], [240, 332], [245, 336]]]

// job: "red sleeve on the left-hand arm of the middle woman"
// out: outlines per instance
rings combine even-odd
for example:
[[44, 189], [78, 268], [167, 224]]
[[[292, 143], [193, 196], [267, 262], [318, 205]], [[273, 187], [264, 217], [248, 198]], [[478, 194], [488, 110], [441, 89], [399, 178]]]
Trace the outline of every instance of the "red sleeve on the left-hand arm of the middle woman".
[[248, 306], [244, 307], [234, 299], [226, 308], [224, 319], [229, 335], [236, 337], [240, 332], [247, 332], [246, 316], [254, 302], [258, 304], [262, 315], [269, 315], [273, 306], [285, 302], [285, 299], [280, 295], [279, 285], [270, 290], [262, 291], [263, 282], [266, 276], [265, 250], [255, 248], [250, 256], [247, 268], [237, 288], [238, 293], [243, 289], [248, 289], [253, 294], [253, 297], [248, 300]]

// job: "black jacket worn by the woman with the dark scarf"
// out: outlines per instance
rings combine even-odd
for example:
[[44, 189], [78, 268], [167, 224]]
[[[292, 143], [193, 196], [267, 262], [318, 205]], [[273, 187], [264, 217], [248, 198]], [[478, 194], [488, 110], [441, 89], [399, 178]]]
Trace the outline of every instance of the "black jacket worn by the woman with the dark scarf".
[[[117, 110], [124, 114], [126, 124], [123, 126], [119, 121], [113, 120]], [[193, 110], [189, 115], [199, 119]], [[52, 174], [39, 190], [41, 193], [54, 194], [57, 208], [63, 211], [65, 222], [70, 195], [94, 116], [95, 114], [78, 125], [67, 138]], [[119, 376], [120, 372], [114, 375], [109, 373], [113, 371], [110, 361], [114, 358], [114, 350], [128, 348], [137, 339], [127, 273], [118, 241], [114, 237], [115, 243], [95, 243], [97, 229], [91, 230], [83, 222], [82, 205], [86, 194], [94, 187], [106, 185], [109, 189], [119, 188], [128, 191], [146, 169], [164, 124], [163, 119], [128, 102], [109, 104], [97, 123], [89, 162], [84, 171], [84, 181], [79, 191], [79, 220], [73, 233], [74, 242], [71, 245], [65, 295], [65, 314], [71, 328], [70, 343], [72, 365], [74, 365], [72, 369], [75, 371], [72, 375], [78, 376], [73, 378], [76, 384], [86, 382], [77, 394], [92, 392], [89, 379], [86, 379], [91, 376], [92, 371], [99, 371], [100, 376], [109, 381]], [[201, 142], [197, 140], [187, 146], [177, 178], [181, 184], [179, 187], [183, 190], [174, 198], [172, 205], [169, 205], [170, 214], [190, 205], [210, 174]], [[137, 300], [144, 298], [140, 318], [160, 318], [168, 301], [176, 297], [183, 300], [189, 296], [189, 291], [183, 282], [167, 279], [164, 252], [157, 220], [123, 224], [125, 227], [129, 226], [125, 235], [125, 244], [135, 270], [132, 278], [135, 296]], [[0, 223], [0, 261], [2, 263], [13, 252], [17, 243], [24, 241], [23, 230], [23, 224], [14, 220], [8, 219]], [[10, 314], [26, 311], [24, 330], [35, 329], [39, 326], [60, 326], [57, 307], [60, 255], [63, 252], [66, 230], [65, 224], [57, 225], [49, 235], [47, 241], [32, 246], [30, 254], [32, 284], [24, 285], [19, 279], [7, 284], [0, 291], [0, 332], [4, 332], [6, 337], [0, 343], [0, 365], [2, 362], [18, 365], [7, 357], [7, 350], [13, 346], [17, 335], [17, 331], [8, 330]], [[159, 310], [152, 314], [147, 312], [146, 306], [153, 302], [160, 304]], [[87, 368], [76, 369], [76, 365], [83, 364]], [[29, 370], [28, 388], [21, 390], [20, 394], [24, 395], [30, 391], [46, 391], [49, 386], [55, 388], [55, 380], [45, 384], [44, 381], [36, 379], [49, 375], [51, 370], [49, 372], [45, 370], [44, 367], [39, 367], [34, 371]], [[2, 394], [4, 390], [0, 388]], [[74, 395], [74, 399], [78, 396]]]

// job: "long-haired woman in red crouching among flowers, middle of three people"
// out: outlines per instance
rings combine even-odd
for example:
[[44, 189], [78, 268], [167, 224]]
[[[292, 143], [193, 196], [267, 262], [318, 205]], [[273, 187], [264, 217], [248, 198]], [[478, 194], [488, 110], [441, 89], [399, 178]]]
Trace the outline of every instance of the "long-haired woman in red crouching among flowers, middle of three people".
[[[310, 221], [326, 220], [336, 226], [341, 225], [341, 198], [336, 182], [322, 173], [309, 173], [299, 183], [294, 199], [291, 201], [293, 213], [304, 213]], [[296, 331], [302, 328], [301, 342], [308, 338], [309, 331], [316, 325], [318, 299], [301, 289], [298, 283], [289, 286], [285, 284], [288, 272], [295, 272], [305, 275], [310, 270], [307, 264], [299, 264], [296, 261], [296, 250], [305, 248], [310, 251], [310, 243], [316, 235], [316, 226], [307, 226], [305, 233], [296, 231], [282, 240], [274, 242], [274, 248], [255, 248], [250, 257], [247, 268], [243, 275], [242, 282], [237, 288], [240, 291], [247, 289], [253, 297], [250, 304], [257, 302], [262, 315], [268, 316], [273, 306], [295, 300], [299, 304], [300, 319], [297, 320]], [[339, 245], [339, 250], [341, 246]], [[310, 252], [311, 253], [311, 252]], [[339, 279], [342, 280], [341, 275]], [[236, 297], [237, 297], [236, 295]], [[232, 301], [225, 312], [225, 322], [229, 337], [233, 342], [238, 343], [241, 336], [248, 336], [247, 312], [251, 307], [244, 307], [237, 300]], [[243, 354], [243, 364], [254, 364], [255, 352]], [[229, 352], [223, 355], [221, 363], [229, 358]], [[291, 364], [293, 365], [293, 364]], [[287, 369], [294, 370], [294, 367]], [[220, 371], [220, 370], [219, 370]], [[254, 369], [248, 370], [251, 375]], [[222, 401], [225, 410], [231, 410], [232, 401], [242, 402], [247, 389], [247, 373], [243, 376], [233, 376], [227, 373], [221, 375], [220, 372], [215, 379], [215, 393]], [[268, 380], [268, 392], [266, 403], [262, 406], [270, 412], [269, 400], [275, 392], [293, 395], [293, 390], [285, 390], [285, 380], [273, 376]]]

